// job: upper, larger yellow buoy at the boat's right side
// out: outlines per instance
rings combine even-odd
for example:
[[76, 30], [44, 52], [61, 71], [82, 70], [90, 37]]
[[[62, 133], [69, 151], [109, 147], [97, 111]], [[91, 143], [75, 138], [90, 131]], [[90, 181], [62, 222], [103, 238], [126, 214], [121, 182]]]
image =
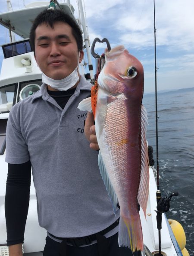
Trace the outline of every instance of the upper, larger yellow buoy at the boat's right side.
[[174, 236], [177, 240], [177, 243], [181, 250], [185, 248], [186, 245], [186, 236], [185, 231], [181, 224], [176, 220], [168, 220], [170, 227], [172, 228], [172, 232], [174, 233]]

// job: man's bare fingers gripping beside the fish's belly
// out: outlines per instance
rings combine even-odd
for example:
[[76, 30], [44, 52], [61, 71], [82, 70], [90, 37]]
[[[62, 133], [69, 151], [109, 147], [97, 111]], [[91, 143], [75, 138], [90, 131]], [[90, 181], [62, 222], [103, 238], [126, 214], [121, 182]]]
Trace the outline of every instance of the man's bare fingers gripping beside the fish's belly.
[[94, 115], [91, 112], [87, 113], [87, 118], [85, 120], [84, 133], [88, 141], [90, 142], [90, 148], [94, 150], [99, 150], [97, 143], [95, 125], [94, 125]]

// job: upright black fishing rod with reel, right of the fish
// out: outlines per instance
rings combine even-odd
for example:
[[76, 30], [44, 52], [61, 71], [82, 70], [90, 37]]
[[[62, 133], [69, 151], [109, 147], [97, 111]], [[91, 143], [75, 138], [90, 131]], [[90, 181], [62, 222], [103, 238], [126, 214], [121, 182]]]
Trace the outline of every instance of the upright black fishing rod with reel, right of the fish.
[[158, 110], [157, 110], [157, 66], [156, 66], [156, 18], [155, 18], [155, 0], [153, 0], [153, 16], [154, 16], [154, 58], [155, 58], [155, 107], [156, 107], [156, 163], [157, 163], [157, 211], [156, 221], [158, 229], [159, 251], [154, 253], [154, 256], [164, 256], [165, 253], [161, 252], [161, 229], [162, 229], [162, 214], [169, 211], [170, 200], [173, 196], [178, 196], [178, 192], [173, 192], [168, 198], [161, 197], [160, 184], [159, 184], [159, 154], [158, 154]]

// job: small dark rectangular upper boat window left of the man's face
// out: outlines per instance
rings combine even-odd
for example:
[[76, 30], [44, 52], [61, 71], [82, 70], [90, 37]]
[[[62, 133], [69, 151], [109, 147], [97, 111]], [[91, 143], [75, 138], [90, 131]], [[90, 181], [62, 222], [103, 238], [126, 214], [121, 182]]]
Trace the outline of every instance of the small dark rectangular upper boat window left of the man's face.
[[27, 52], [32, 52], [29, 39], [20, 42], [12, 42], [10, 44], [2, 45], [3, 54], [5, 58], [10, 58]]

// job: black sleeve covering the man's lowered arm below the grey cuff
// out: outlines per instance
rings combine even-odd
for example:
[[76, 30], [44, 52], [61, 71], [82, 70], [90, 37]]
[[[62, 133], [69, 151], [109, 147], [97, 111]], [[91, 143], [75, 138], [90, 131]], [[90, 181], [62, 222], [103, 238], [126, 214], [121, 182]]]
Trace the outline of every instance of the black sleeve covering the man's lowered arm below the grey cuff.
[[23, 164], [8, 164], [5, 196], [7, 246], [24, 242], [30, 183], [30, 161]]

